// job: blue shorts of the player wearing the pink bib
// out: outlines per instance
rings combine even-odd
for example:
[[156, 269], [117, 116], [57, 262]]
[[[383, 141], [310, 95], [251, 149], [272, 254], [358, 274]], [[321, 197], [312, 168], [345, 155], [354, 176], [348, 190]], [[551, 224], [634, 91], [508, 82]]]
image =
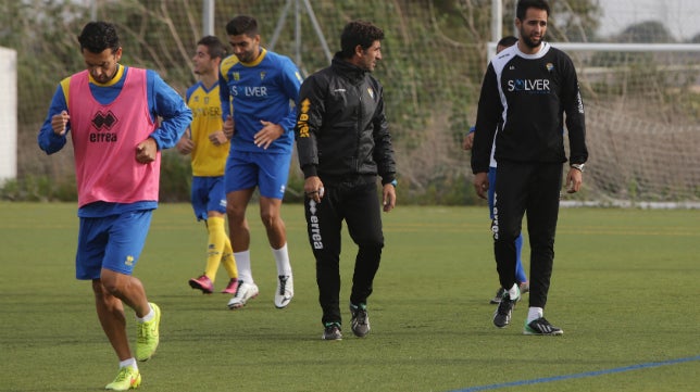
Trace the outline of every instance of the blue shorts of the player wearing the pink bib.
[[80, 218], [75, 277], [98, 279], [102, 268], [132, 275], [151, 226], [152, 210], [129, 211], [101, 218]]

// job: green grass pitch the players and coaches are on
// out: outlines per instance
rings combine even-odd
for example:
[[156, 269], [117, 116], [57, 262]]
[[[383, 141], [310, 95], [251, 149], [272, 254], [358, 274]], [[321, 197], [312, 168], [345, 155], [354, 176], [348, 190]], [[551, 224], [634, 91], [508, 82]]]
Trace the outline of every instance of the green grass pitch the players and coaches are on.
[[[87, 282], [74, 279], [75, 204], [0, 203], [3, 391], [98, 391], [116, 357]], [[136, 268], [163, 311], [161, 346], [140, 364], [143, 391], [452, 391], [700, 354], [700, 211], [561, 211], [547, 317], [563, 337], [491, 325], [497, 288], [485, 207], [399, 206], [370, 299], [372, 333], [324, 342], [301, 205], [285, 205], [296, 296], [275, 309], [275, 266], [251, 205], [261, 294], [240, 311], [187, 279], [205, 230], [187, 204], [162, 204]], [[345, 237], [343, 302], [355, 246]], [[528, 250], [526, 249], [526, 252]], [[525, 253], [527, 254], [527, 253]], [[524, 257], [528, 260], [527, 256]], [[226, 281], [220, 270], [216, 281]], [[134, 319], [128, 317], [132, 341]], [[700, 361], [500, 391], [688, 391]]]

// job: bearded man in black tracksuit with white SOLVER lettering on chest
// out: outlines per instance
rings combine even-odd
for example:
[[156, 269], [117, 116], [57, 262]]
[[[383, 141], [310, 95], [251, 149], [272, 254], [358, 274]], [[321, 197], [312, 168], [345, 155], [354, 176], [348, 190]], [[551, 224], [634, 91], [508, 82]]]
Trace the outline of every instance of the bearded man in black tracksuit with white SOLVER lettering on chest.
[[542, 40], [549, 4], [520, 0], [515, 25], [517, 45], [501, 51], [489, 64], [476, 118], [472, 152], [474, 187], [486, 198], [489, 154], [497, 125], [493, 157], [498, 181], [493, 195], [493, 249], [501, 287], [505, 290], [493, 315], [504, 328], [520, 290], [515, 279], [515, 239], [527, 213], [530, 244], [529, 309], [525, 334], [562, 334], [543, 317], [554, 260], [564, 152], [563, 114], [571, 148], [567, 191], [579, 190], [588, 157], [584, 103], [571, 59]]

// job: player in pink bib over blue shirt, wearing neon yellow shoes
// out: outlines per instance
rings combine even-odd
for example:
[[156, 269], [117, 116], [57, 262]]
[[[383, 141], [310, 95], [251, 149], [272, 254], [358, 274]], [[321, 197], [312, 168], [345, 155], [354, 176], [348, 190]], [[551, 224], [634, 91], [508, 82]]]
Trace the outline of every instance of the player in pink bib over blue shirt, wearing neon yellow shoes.
[[[161, 311], [133, 271], [158, 207], [161, 150], [175, 146], [192, 115], [155, 72], [120, 64], [114, 25], [90, 22], [78, 42], [86, 69], [59, 84], [38, 143], [52, 154], [72, 136], [80, 220], [76, 278], [92, 282], [98, 318], [120, 361], [105, 389], [125, 391], [138, 388], [136, 361], [148, 361], [160, 340]], [[124, 304], [137, 318], [135, 355]]]

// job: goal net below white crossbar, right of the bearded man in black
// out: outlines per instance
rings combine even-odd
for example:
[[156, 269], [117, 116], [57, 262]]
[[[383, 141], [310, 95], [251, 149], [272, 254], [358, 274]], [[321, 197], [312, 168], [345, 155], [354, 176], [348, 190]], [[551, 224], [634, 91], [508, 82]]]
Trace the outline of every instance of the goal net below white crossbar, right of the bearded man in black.
[[700, 46], [560, 47], [577, 64], [587, 98], [584, 198], [700, 199]]

